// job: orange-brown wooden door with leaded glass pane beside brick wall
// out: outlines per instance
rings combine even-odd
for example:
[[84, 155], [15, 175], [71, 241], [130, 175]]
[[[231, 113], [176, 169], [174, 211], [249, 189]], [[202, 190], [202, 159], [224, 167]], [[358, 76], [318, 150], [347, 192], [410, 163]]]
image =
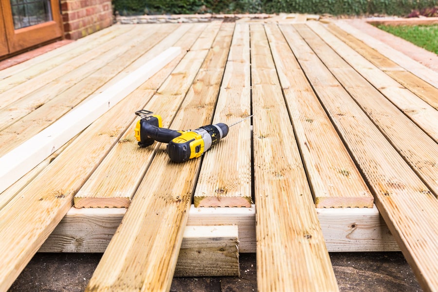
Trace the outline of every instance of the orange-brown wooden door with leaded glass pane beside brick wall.
[[58, 0], [0, 0], [0, 4], [0, 55], [5, 55], [4, 38], [11, 54], [63, 36]]

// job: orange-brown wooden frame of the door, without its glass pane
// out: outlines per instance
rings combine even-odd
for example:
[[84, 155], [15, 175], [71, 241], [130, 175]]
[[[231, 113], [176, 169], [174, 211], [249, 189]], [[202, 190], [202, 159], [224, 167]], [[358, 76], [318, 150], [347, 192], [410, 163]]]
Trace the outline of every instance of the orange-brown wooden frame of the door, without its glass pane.
[[12, 18], [10, 0], [0, 0], [0, 2], [9, 54], [64, 36], [62, 16], [58, 0], [50, 0], [53, 17], [52, 21], [19, 29], [14, 29], [14, 19]]

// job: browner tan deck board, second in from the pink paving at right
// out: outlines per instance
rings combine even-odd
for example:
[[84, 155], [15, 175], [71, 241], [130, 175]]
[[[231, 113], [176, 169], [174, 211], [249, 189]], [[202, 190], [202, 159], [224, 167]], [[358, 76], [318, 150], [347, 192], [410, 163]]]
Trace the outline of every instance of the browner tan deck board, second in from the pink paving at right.
[[368, 47], [363, 41], [349, 35], [337, 25], [331, 23], [326, 26], [326, 28], [329, 32], [347, 43], [351, 48], [363, 55], [383, 72], [394, 78], [410, 91], [414, 92], [434, 109], [438, 110], [438, 88], [402, 68], [400, 65], [377, 52], [375, 49]]

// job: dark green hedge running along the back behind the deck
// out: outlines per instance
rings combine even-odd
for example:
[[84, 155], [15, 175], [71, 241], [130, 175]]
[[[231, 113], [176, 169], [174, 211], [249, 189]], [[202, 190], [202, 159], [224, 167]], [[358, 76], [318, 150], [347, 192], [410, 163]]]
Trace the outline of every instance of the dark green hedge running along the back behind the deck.
[[134, 14], [311, 13], [331, 15], [408, 15], [438, 0], [112, 0], [114, 11]]

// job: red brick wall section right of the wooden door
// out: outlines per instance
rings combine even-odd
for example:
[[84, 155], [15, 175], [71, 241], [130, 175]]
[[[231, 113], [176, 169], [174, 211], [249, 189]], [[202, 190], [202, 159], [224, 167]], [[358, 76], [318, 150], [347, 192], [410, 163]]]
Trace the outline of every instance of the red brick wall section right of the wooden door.
[[85, 37], [112, 24], [111, 0], [61, 0], [61, 9], [68, 39]]

